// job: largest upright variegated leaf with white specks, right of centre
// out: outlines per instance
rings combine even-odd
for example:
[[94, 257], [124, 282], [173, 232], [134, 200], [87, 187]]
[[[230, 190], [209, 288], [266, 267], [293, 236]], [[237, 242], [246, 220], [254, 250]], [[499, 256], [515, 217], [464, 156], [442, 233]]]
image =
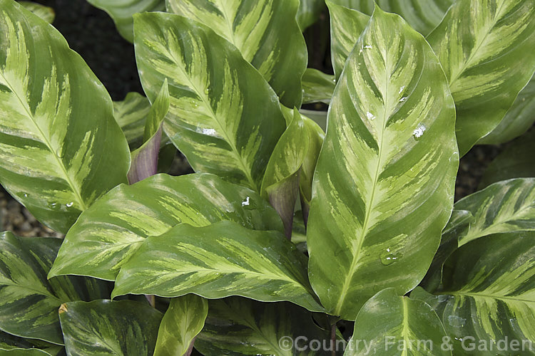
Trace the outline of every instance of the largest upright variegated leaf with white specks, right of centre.
[[454, 116], [432, 49], [377, 8], [337, 84], [314, 177], [309, 275], [333, 315], [354, 320], [377, 290], [403, 295], [424, 277], [452, 211]]

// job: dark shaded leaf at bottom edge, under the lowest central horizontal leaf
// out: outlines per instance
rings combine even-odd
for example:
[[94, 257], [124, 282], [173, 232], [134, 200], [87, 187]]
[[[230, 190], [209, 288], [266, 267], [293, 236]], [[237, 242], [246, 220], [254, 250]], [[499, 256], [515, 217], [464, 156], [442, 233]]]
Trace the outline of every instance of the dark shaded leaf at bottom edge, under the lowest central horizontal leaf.
[[322, 350], [295, 350], [295, 345], [285, 342], [299, 336], [326, 345], [330, 341], [330, 333], [318, 328], [312, 315], [296, 305], [237, 297], [208, 303], [205, 327], [195, 339], [195, 349], [203, 355], [331, 355]]

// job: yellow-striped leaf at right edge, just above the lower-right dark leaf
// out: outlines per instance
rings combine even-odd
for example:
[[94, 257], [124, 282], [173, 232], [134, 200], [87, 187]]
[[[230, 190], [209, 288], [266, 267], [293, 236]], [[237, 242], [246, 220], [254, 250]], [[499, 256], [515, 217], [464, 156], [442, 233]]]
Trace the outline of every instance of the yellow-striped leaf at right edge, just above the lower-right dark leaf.
[[455, 203], [455, 209], [474, 216], [459, 246], [499, 232], [535, 230], [535, 178], [497, 182]]

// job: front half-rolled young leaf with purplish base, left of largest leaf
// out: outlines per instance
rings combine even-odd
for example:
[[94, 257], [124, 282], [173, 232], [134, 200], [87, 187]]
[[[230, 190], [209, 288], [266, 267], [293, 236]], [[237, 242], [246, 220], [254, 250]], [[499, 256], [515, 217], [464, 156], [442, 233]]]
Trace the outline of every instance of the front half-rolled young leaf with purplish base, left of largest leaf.
[[262, 195], [270, 201], [285, 226], [287, 238], [292, 236], [292, 220], [295, 202], [299, 194], [300, 169], [308, 151], [308, 132], [297, 109], [293, 119], [280, 137], [267, 163]]

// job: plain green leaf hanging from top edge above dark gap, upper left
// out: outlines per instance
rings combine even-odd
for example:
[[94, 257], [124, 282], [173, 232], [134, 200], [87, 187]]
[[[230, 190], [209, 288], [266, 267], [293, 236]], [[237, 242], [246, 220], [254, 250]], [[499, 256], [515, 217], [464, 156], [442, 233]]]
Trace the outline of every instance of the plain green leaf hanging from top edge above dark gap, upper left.
[[146, 11], [165, 11], [165, 0], [87, 0], [89, 4], [106, 11], [117, 26], [121, 36], [134, 41], [133, 14]]

